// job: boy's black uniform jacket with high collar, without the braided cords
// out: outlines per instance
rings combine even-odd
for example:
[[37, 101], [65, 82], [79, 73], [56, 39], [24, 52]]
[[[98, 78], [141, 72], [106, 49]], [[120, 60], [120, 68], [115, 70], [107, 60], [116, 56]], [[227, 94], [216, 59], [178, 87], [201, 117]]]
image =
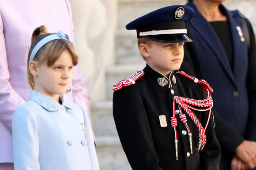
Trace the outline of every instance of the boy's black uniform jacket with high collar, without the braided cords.
[[[149, 65], [144, 76], [135, 84], [124, 87], [113, 94], [113, 116], [124, 152], [134, 170], [218, 170], [220, 147], [210, 119], [206, 130], [207, 141], [202, 151], [196, 151], [196, 137], [199, 133], [196, 124], [186, 114], [192, 132], [192, 150], [188, 134], [180, 118], [177, 118], [178, 160], [175, 156], [174, 130], [170, 119], [173, 116], [173, 94], [193, 99], [206, 98], [202, 87], [182, 76], [176, 75], [177, 83], [162, 87], [158, 78], [164, 77]], [[170, 76], [172, 77], [173, 74]], [[167, 78], [166, 78], [167, 80]], [[176, 106], [176, 108], [178, 108]], [[184, 112], [184, 111], [183, 111]], [[184, 112], [185, 113], [185, 112]], [[203, 127], [208, 112], [194, 112]], [[166, 116], [167, 127], [160, 127], [160, 115]]]

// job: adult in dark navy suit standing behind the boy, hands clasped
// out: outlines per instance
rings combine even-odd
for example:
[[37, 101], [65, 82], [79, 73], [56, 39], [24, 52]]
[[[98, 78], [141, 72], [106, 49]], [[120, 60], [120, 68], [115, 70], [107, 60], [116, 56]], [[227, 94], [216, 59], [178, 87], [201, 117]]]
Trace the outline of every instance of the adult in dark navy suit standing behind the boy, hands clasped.
[[[215, 133], [222, 148], [220, 170], [256, 166], [256, 48], [251, 24], [225, 0], [189, 0], [181, 69], [213, 87]], [[247, 42], [247, 44], [246, 44]], [[232, 164], [232, 165], [231, 165]], [[240, 169], [239, 169], [240, 170]]]

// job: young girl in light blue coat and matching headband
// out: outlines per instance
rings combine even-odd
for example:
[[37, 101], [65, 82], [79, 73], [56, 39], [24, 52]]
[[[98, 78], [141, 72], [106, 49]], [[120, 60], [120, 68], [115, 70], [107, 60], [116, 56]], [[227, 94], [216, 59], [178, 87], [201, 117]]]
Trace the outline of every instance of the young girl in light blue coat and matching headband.
[[34, 30], [28, 54], [30, 98], [14, 112], [15, 170], [98, 170], [92, 128], [64, 93], [78, 58], [68, 35]]

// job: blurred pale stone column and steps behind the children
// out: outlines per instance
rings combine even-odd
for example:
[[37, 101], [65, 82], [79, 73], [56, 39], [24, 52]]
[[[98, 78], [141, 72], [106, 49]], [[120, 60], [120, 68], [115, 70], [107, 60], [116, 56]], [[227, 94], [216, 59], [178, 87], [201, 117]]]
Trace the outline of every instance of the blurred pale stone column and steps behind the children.
[[[139, 54], [135, 30], [128, 22], [169, 5], [187, 0], [70, 0], [79, 68], [87, 85], [90, 119], [101, 170], [131, 170], [120, 145], [112, 116], [113, 84], [128, 78], [146, 63]], [[256, 1], [227, 0], [239, 9], [256, 33]], [[125, 98], [124, 98], [125, 100]]]

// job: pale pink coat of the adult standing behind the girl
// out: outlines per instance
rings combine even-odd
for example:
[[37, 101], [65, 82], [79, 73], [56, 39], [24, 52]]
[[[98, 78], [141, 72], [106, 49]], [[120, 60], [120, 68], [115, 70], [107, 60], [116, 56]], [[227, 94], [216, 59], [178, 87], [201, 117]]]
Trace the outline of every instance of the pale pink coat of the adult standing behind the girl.
[[[68, 0], [0, 0], [0, 163], [12, 163], [12, 116], [29, 98], [26, 60], [35, 28], [45, 25], [49, 33], [63, 29], [74, 42]], [[88, 115], [87, 90], [78, 66], [73, 69], [69, 101], [81, 105]]]

